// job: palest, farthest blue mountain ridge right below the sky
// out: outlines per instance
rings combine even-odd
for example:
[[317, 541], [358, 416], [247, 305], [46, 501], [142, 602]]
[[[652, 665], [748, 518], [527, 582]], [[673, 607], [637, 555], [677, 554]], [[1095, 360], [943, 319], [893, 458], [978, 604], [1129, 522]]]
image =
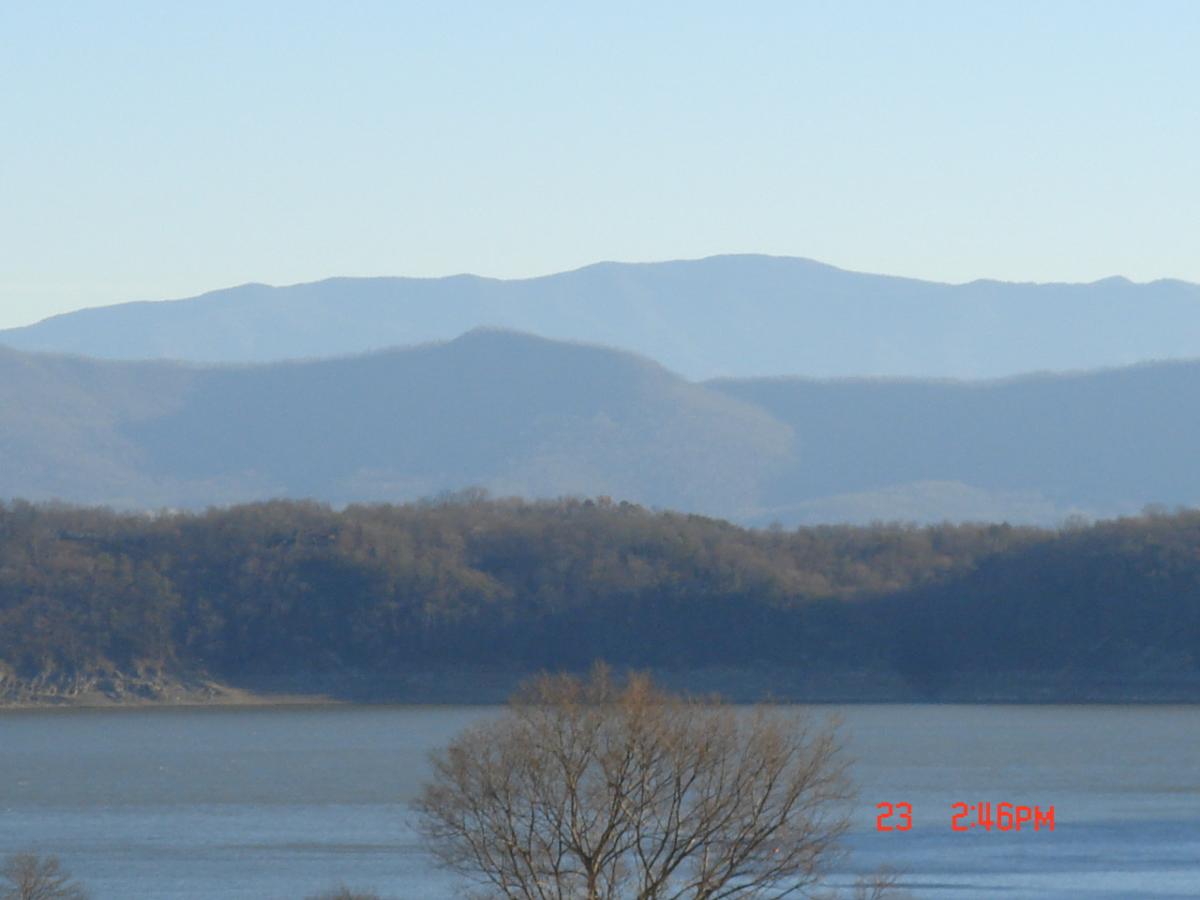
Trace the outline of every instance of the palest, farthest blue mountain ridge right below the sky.
[[601, 263], [540, 278], [331, 278], [80, 310], [0, 344], [104, 359], [266, 362], [500, 326], [622, 347], [686, 378], [991, 378], [1200, 356], [1200, 286], [940, 284], [808, 259]]

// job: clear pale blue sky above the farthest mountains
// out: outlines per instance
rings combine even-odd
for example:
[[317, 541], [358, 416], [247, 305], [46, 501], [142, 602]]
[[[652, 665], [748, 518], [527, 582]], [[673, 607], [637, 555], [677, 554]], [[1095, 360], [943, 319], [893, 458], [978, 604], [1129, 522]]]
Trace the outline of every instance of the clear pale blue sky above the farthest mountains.
[[8, 2], [0, 326], [804, 256], [1200, 282], [1200, 2]]

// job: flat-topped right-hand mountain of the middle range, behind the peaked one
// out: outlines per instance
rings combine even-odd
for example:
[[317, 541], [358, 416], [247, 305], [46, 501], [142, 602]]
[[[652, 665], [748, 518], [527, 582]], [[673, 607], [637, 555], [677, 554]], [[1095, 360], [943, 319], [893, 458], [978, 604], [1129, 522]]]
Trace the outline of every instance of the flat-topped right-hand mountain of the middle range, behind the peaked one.
[[[924, 520], [902, 510], [965, 505], [982, 512], [989, 504], [1027, 510], [1004, 516], [1014, 521], [1052, 521], [1073, 511], [1200, 503], [1200, 420], [1190, 414], [1200, 396], [1196, 362], [978, 383], [781, 378], [709, 385], [797, 431], [799, 463], [764, 486], [769, 497], [792, 498], [770, 512], [782, 521], [814, 521], [821, 510], [816, 518], [869, 521], [892, 510]], [[816, 498], [826, 502], [814, 510]], [[856, 506], [860, 512], [851, 515]], [[1050, 509], [1057, 516], [1046, 515]]]

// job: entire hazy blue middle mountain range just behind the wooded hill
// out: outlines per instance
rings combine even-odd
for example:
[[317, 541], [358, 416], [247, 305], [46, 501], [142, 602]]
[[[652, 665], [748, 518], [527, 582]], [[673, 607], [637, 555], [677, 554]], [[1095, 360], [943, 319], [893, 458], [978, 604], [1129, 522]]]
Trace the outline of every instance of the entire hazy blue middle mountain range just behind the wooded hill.
[[0, 497], [203, 508], [468, 486], [782, 524], [1200, 502], [1200, 364], [980, 383], [721, 379], [475, 330], [253, 366], [0, 350]]

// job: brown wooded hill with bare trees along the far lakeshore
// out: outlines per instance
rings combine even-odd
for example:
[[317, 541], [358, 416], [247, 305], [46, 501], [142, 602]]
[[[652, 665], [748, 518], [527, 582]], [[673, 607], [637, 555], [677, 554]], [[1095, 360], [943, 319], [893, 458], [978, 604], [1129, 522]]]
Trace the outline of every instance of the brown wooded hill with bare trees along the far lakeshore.
[[1200, 700], [1200, 512], [1063, 532], [788, 532], [475, 494], [155, 517], [0, 506], [8, 700], [120, 692], [146, 672], [361, 686], [601, 658], [734, 680], [769, 670], [775, 694], [823, 679], [816, 694], [841, 700], [881, 684], [918, 698]]

